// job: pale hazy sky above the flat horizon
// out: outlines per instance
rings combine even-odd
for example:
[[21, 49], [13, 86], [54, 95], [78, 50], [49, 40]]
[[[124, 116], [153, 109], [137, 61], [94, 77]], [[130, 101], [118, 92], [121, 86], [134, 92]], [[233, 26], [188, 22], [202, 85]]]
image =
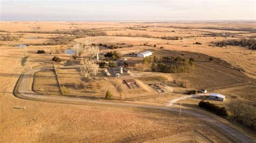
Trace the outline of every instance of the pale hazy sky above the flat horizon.
[[0, 0], [0, 21], [255, 21], [255, 0]]

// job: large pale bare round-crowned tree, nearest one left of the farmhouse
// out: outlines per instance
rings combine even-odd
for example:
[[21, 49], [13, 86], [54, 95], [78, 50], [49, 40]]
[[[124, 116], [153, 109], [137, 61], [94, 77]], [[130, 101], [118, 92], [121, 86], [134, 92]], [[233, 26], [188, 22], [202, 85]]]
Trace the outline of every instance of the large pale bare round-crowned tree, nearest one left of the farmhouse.
[[90, 75], [96, 76], [98, 72], [98, 65], [90, 59], [84, 59], [84, 64], [80, 66], [80, 70], [86, 78]]

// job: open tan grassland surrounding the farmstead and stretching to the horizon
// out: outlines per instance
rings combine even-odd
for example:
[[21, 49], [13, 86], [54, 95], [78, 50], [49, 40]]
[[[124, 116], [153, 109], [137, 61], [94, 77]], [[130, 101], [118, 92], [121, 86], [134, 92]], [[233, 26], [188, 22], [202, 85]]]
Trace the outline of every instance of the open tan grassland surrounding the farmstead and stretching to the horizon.
[[[197, 116], [202, 113], [255, 141], [255, 132], [245, 126], [198, 107], [201, 99], [226, 107], [230, 114], [229, 103], [237, 99], [256, 106], [255, 50], [241, 45], [215, 45], [222, 40], [255, 39], [255, 32], [255, 23], [251, 22], [0, 22], [0, 139], [3, 142], [238, 141], [230, 132], [214, 126], [212, 119]], [[106, 52], [122, 53], [129, 65], [124, 67], [128, 72], [122, 77], [108, 77], [104, 70], [111, 74], [114, 70], [105, 67], [95, 76], [85, 78], [79, 58], [72, 59], [66, 51], [76, 43], [101, 44], [100, 59]], [[117, 49], [104, 45], [116, 45], [113, 47]], [[38, 50], [45, 53], [38, 54]], [[131, 57], [129, 53], [146, 50], [152, 52], [151, 57], [193, 58], [196, 69], [188, 73], [159, 73], [152, 72], [150, 63], [143, 65], [144, 71], [139, 71], [136, 64], [142, 64], [143, 58]], [[62, 60], [54, 64], [55, 68], [54, 56]], [[86, 51], [81, 54], [86, 56]], [[116, 66], [122, 63], [113, 62]], [[139, 88], [131, 89], [125, 84], [124, 79], [131, 78]], [[159, 94], [152, 84], [163, 85], [166, 92]], [[59, 86], [66, 87], [68, 92], [62, 94]], [[180, 107], [178, 103], [182, 102], [184, 108], [197, 113], [181, 113], [181, 118], [179, 112], [160, 110], [170, 100], [196, 88], [224, 94], [226, 99], [224, 102], [206, 97], [179, 100], [173, 108]], [[107, 90], [112, 93], [110, 101], [104, 100]], [[19, 94], [41, 100], [20, 99]], [[45, 98], [52, 100], [43, 102]], [[55, 99], [92, 103], [52, 103]]]

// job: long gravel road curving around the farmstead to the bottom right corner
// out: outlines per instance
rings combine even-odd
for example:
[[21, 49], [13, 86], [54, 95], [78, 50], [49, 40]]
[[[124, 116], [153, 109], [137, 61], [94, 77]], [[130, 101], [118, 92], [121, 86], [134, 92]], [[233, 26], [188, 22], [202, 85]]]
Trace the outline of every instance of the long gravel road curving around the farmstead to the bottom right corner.
[[[175, 111], [179, 112], [179, 108], [175, 107], [166, 107], [166, 106], [154, 106], [154, 105], [143, 105], [143, 104], [134, 104], [134, 103], [116, 103], [111, 101], [102, 101], [102, 100], [89, 100], [84, 98], [78, 97], [64, 97], [64, 96], [42, 96], [37, 93], [33, 93], [31, 90], [28, 90], [28, 87], [32, 87], [32, 80], [33, 74], [37, 71], [42, 70], [52, 70], [52, 69], [33, 69], [29, 70], [26, 73], [22, 74], [21, 77], [18, 79], [17, 84], [14, 89], [14, 95], [18, 98], [28, 99], [28, 100], [35, 100], [35, 101], [47, 101], [53, 103], [66, 103], [66, 104], [106, 104], [106, 105], [119, 105], [119, 106], [131, 106], [131, 107], [142, 107], [142, 108], [153, 108], [159, 110], [166, 110], [166, 111]], [[185, 97], [181, 97], [185, 98]], [[178, 99], [176, 99], [178, 100]], [[180, 100], [180, 99], [179, 99]], [[254, 142], [251, 138], [248, 138], [246, 135], [240, 133], [239, 131], [235, 130], [234, 128], [220, 122], [212, 117], [209, 117], [205, 114], [201, 114], [198, 112], [194, 112], [191, 110], [182, 111], [185, 114], [193, 115], [197, 118], [200, 118], [211, 125], [218, 127], [220, 130], [226, 132], [227, 134], [233, 137], [232, 142]]]

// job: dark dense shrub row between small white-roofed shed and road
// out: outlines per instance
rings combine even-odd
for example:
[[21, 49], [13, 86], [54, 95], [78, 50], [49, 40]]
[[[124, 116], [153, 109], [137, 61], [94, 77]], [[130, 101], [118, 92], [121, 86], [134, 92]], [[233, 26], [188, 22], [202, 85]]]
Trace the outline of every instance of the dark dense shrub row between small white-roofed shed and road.
[[209, 103], [208, 101], [205, 102], [204, 100], [201, 100], [201, 101], [199, 101], [198, 105], [199, 105], [199, 107], [210, 110], [210, 111], [214, 112], [217, 115], [221, 115], [221, 116], [224, 116], [224, 117], [226, 117], [228, 115], [227, 110], [226, 110], [225, 107], [217, 106], [215, 104]]

